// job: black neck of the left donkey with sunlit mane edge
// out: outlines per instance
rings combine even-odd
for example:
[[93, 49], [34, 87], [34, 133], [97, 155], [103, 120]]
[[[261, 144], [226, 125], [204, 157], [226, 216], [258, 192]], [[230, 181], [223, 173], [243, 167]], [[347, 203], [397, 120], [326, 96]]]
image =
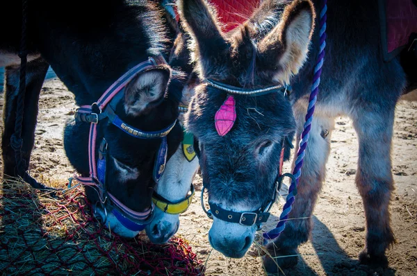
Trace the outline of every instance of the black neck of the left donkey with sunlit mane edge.
[[99, 12], [79, 0], [65, 1], [65, 12], [46, 2], [31, 5], [29, 39], [79, 105], [97, 101], [126, 71], [165, 51], [166, 28], [152, 1], [112, 1]]

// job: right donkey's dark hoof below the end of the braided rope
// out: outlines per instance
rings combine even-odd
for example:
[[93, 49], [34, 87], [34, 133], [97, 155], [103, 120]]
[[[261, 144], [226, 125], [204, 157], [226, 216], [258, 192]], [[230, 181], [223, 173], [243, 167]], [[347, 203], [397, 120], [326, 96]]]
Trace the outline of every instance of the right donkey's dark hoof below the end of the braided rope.
[[297, 250], [269, 250], [270, 255], [263, 256], [263, 267], [266, 273], [279, 273], [280, 269], [293, 268], [297, 262]]

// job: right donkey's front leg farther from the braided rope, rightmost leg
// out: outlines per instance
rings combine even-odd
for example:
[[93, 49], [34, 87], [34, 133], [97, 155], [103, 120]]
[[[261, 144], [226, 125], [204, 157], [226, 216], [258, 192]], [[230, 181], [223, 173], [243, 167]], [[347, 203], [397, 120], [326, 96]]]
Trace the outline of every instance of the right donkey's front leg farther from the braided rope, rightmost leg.
[[366, 214], [366, 245], [359, 260], [386, 266], [385, 250], [395, 242], [390, 226], [389, 202], [393, 187], [391, 139], [394, 108], [359, 110], [352, 118], [359, 138], [356, 184]]

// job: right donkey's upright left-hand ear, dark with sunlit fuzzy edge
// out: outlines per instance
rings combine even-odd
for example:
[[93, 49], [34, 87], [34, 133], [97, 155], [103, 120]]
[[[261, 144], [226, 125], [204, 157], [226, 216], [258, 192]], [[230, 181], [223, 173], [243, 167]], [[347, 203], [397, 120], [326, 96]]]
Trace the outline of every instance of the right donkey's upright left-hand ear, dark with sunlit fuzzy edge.
[[190, 43], [192, 58], [198, 62], [200, 73], [206, 76], [215, 66], [213, 62], [224, 62], [222, 53], [229, 49], [215, 20], [215, 9], [204, 0], [179, 0], [178, 11], [183, 27], [193, 40]]

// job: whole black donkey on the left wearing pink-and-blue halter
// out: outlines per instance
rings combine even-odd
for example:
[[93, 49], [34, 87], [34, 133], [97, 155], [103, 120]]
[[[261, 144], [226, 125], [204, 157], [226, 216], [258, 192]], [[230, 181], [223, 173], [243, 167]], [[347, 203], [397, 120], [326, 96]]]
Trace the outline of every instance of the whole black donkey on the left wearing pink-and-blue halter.
[[[7, 26], [3, 28], [0, 41], [0, 66], [6, 66], [1, 144], [3, 175], [13, 177], [17, 172], [10, 137], [14, 132], [19, 91], [17, 53], [22, 3], [6, 1], [1, 3], [1, 10], [10, 14], [7, 19], [0, 18], [1, 25]], [[161, 173], [163, 158], [170, 158], [182, 137], [181, 127], [175, 122], [183, 84], [177, 79], [170, 82], [172, 70], [162, 58], [169, 52], [172, 36], [168, 36], [167, 27], [163, 25], [161, 8], [150, 1], [116, 0], [106, 5], [101, 1], [28, 1], [26, 15], [24, 170], [28, 169], [40, 89], [49, 65], [74, 93], [77, 105], [92, 105], [112, 83], [130, 72], [129, 76], [125, 75], [125, 83], [113, 87], [120, 92], [112, 93], [115, 97], [108, 98], [109, 103], [103, 110], [92, 106], [88, 113], [80, 111], [79, 119], [68, 123], [64, 144], [70, 162], [81, 176], [90, 176], [91, 166], [98, 166], [98, 174], [101, 171], [101, 175], [93, 175], [94, 181], [90, 179], [90, 184], [104, 187], [99, 187], [98, 192], [95, 187], [86, 189], [90, 201], [100, 203], [95, 208], [96, 213], [113, 232], [135, 236], [152, 218], [153, 172]], [[141, 65], [136, 67], [137, 64]], [[95, 119], [99, 119], [99, 123]], [[92, 121], [97, 123], [97, 139], [95, 148], [90, 150]], [[164, 137], [167, 137], [168, 148], [165, 156], [161, 151], [161, 148], [166, 149], [161, 146]], [[89, 159], [94, 150], [95, 155]], [[162, 155], [157, 159], [162, 160], [159, 163], [155, 162], [157, 153]], [[104, 168], [102, 162], [89, 164], [91, 160], [102, 161], [102, 157], [106, 157]]]

